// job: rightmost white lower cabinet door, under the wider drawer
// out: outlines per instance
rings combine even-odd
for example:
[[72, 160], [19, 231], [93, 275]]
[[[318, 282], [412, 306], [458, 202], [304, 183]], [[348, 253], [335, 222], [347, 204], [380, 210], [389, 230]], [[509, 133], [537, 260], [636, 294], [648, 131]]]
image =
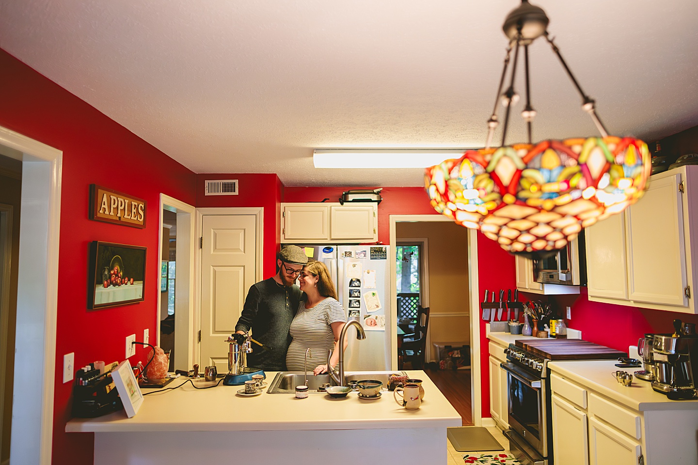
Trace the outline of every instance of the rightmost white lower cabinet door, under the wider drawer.
[[589, 420], [589, 451], [591, 465], [637, 465], [641, 455], [637, 441], [595, 418]]

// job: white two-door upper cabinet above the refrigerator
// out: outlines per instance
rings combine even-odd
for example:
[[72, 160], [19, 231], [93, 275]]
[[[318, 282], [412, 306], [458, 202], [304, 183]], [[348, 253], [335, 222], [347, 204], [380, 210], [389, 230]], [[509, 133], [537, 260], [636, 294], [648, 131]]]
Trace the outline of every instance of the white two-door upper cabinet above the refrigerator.
[[281, 242], [378, 241], [378, 204], [281, 204]]

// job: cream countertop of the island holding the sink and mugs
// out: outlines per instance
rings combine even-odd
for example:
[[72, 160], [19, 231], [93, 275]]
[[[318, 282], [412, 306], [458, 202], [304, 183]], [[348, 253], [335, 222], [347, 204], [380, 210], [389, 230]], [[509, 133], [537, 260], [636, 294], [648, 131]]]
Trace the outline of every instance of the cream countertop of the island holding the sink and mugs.
[[[267, 386], [276, 372], [267, 372]], [[98, 418], [74, 418], [66, 432], [139, 431], [266, 431], [289, 429], [375, 429], [461, 426], [459, 413], [422, 371], [408, 371], [422, 379], [424, 402], [418, 410], [396, 404], [393, 392], [383, 390], [380, 399], [363, 400], [357, 392], [344, 399], [311, 392], [306, 399], [292, 394], [255, 397], [236, 395], [242, 386], [217, 386], [196, 390], [188, 383], [175, 390], [146, 395], [140, 410], [126, 418], [123, 410]], [[174, 387], [186, 378], [172, 381]], [[212, 384], [208, 383], [209, 385]], [[207, 386], [198, 383], [197, 386]], [[265, 388], [266, 390], [267, 388]], [[144, 389], [143, 392], [151, 390]]]

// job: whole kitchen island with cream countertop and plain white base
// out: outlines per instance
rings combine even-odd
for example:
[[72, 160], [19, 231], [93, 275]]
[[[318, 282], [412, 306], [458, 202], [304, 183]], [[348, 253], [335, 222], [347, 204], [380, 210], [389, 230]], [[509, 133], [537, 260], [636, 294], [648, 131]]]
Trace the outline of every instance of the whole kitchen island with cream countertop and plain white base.
[[[186, 383], [145, 396], [133, 418], [123, 410], [75, 418], [66, 432], [94, 433], [96, 465], [165, 464], [172, 459], [251, 460], [255, 465], [349, 465], [364, 459], [445, 464], [446, 428], [461, 426], [461, 416], [426, 373], [407, 373], [424, 381], [424, 402], [414, 411], [401, 408], [387, 390], [371, 400], [359, 399], [357, 392], [344, 399], [315, 392], [296, 399], [267, 392], [241, 397], [236, 392], [242, 386], [197, 390]], [[274, 376], [276, 372], [267, 372], [267, 386]], [[185, 382], [177, 379], [168, 387]]]

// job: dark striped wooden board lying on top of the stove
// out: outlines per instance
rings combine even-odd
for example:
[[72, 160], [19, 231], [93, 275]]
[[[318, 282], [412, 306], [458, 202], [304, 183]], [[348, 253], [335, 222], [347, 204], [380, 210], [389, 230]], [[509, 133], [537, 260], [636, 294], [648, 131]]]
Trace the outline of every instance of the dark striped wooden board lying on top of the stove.
[[628, 353], [581, 339], [519, 339], [517, 347], [551, 360], [613, 360]]

